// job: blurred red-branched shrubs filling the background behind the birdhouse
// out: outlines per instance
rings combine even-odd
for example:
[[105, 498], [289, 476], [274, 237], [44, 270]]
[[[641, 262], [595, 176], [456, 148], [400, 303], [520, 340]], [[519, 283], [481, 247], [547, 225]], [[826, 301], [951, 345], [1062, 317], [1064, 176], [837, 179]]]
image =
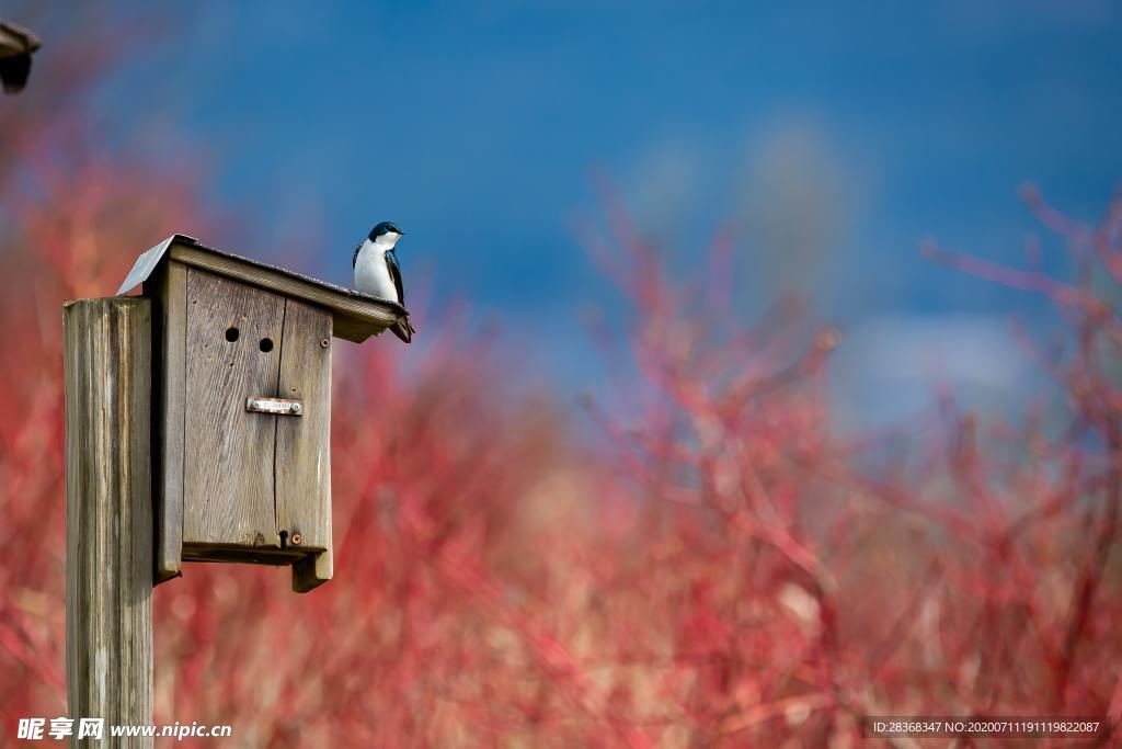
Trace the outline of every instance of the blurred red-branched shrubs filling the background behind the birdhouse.
[[[0, 108], [6, 737], [65, 714], [61, 304], [223, 220], [183, 164], [101, 150], [75, 116], [99, 60], [65, 65]], [[948, 393], [901, 428], [907, 455], [884, 449], [896, 431], [835, 437], [838, 332], [789, 305], [743, 326], [726, 240], [673, 290], [610, 199], [594, 255], [635, 314], [606, 351], [628, 362], [618, 400], [586, 403], [603, 438], [564, 403], [511, 402], [513, 368], [451, 318], [407, 372], [395, 341], [341, 346], [337, 578], [297, 596], [284, 569], [191, 565], [158, 587], [157, 720], [231, 723], [245, 747], [846, 747], [893, 713], [1118, 725], [1122, 202], [1094, 227], [1028, 203], [1076, 282], [1031, 255], [932, 254], [1066, 318], [1061, 347], [1024, 337], [1052, 415], [980, 422]]]

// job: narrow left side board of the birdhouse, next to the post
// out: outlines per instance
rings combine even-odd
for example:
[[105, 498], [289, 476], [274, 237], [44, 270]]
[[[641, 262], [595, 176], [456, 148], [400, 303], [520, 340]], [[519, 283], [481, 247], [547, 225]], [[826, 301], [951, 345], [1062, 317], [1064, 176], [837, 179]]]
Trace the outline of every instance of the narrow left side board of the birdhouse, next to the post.
[[181, 574], [183, 548], [183, 439], [186, 396], [187, 267], [163, 263], [145, 296], [153, 300], [153, 469], [156, 509], [155, 579]]

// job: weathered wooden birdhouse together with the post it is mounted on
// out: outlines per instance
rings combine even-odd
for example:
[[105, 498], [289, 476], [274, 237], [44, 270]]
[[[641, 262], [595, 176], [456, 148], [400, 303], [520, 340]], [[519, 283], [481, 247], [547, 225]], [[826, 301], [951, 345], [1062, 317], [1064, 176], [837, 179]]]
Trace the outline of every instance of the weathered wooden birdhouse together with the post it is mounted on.
[[[154, 583], [182, 561], [332, 576], [332, 338], [361, 342], [394, 302], [175, 235], [118, 294], [64, 309], [70, 715], [153, 722]], [[192, 716], [194, 720], [195, 716]], [[93, 746], [72, 740], [72, 746]]]

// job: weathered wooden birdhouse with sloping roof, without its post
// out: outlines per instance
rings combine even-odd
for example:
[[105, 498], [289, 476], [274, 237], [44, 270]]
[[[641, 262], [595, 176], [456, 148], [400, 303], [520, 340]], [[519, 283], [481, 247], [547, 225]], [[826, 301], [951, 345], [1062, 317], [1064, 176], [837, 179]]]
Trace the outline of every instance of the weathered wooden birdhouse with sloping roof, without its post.
[[175, 235], [118, 294], [153, 301], [156, 579], [182, 560], [292, 565], [331, 578], [331, 350], [406, 312], [394, 302]]

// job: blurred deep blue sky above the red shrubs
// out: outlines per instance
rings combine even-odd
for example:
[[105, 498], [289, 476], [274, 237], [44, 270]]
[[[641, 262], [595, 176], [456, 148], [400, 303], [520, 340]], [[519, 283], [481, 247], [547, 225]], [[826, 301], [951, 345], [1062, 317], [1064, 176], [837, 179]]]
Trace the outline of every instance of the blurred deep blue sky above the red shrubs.
[[746, 316], [792, 286], [865, 334], [1042, 314], [919, 243], [1019, 262], [1019, 184], [1091, 219], [1122, 175], [1109, 2], [167, 8], [101, 119], [137, 155], [210, 161], [211, 200], [252, 225], [203, 239], [267, 255], [311, 226], [302, 270], [346, 282], [393, 219], [433, 310], [467, 301], [578, 382], [598, 372], [580, 310], [617, 304], [574, 231], [600, 216], [594, 171], [682, 265], [743, 227]]

